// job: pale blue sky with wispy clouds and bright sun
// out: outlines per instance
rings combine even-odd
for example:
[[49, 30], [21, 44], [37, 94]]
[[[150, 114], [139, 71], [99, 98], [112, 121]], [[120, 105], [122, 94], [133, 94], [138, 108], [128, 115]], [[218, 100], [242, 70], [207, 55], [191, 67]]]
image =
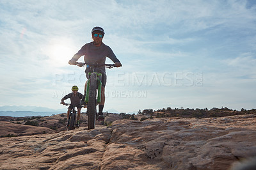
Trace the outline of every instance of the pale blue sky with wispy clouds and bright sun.
[[86, 81], [68, 60], [100, 26], [122, 63], [104, 111], [256, 108], [256, 1], [1, 0], [0, 15], [0, 106], [63, 109]]

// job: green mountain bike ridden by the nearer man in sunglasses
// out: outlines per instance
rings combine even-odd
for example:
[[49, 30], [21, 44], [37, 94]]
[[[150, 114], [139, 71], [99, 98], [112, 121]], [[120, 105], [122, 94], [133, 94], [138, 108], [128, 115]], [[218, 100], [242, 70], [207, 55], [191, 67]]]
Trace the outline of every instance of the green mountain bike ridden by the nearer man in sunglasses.
[[98, 63], [88, 64], [88, 63], [76, 63], [77, 66], [86, 66], [87, 68], [92, 68], [92, 72], [88, 73], [88, 81], [86, 82], [86, 94], [84, 102], [87, 104], [87, 116], [88, 116], [88, 129], [95, 128], [95, 120], [100, 121], [100, 124], [104, 125], [104, 120], [99, 120], [99, 115], [97, 114], [96, 106], [101, 101], [101, 86], [102, 86], [102, 73], [97, 72], [99, 66], [106, 66], [107, 68], [116, 67], [113, 64], [103, 64]]

